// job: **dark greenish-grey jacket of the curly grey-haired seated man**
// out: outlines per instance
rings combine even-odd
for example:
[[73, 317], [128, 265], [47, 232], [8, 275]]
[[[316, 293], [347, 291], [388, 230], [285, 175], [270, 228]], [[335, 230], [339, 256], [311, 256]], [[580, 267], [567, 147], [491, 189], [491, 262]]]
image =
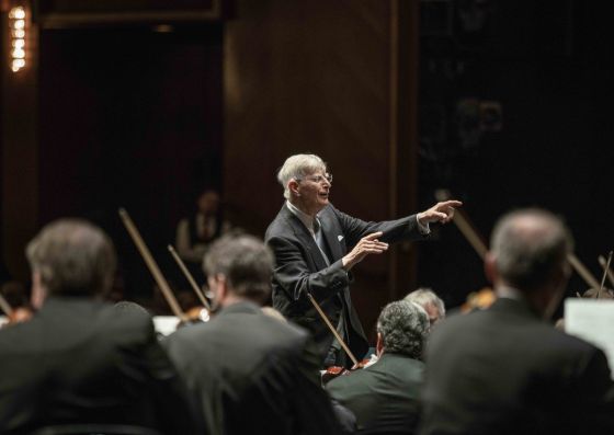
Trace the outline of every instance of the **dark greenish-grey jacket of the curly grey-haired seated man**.
[[374, 365], [334, 378], [326, 388], [354, 413], [359, 430], [413, 434], [423, 370], [420, 360], [384, 353]]

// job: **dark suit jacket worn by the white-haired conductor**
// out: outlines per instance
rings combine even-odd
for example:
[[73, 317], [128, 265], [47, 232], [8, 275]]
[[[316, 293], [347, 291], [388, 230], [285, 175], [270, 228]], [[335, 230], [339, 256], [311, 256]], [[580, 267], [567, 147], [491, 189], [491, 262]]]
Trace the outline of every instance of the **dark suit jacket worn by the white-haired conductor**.
[[275, 254], [273, 277], [273, 307], [286, 318], [309, 330], [318, 343], [322, 358], [333, 336], [311, 306], [311, 294], [333, 325], [345, 316], [349, 346], [362, 358], [368, 350], [363, 327], [350, 296], [351, 274], [343, 270], [341, 259], [365, 236], [383, 231], [380, 240], [397, 242], [424, 238], [416, 215], [398, 220], [366, 222], [334, 208], [325, 207], [319, 214], [330, 266], [305, 225], [284, 204], [269, 226], [266, 243]]

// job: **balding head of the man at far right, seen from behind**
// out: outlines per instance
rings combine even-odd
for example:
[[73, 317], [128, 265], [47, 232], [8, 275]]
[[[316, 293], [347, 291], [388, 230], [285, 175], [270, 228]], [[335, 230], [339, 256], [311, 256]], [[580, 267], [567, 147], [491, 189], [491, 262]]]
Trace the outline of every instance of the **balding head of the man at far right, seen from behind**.
[[501, 279], [518, 289], [533, 290], [567, 270], [573, 240], [557, 216], [527, 208], [504, 215], [492, 231], [490, 245]]

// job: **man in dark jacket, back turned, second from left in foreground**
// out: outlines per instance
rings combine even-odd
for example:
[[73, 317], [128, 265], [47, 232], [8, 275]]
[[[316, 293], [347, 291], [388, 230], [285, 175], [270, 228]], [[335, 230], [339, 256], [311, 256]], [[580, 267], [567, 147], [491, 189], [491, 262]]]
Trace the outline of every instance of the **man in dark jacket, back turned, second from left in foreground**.
[[273, 255], [250, 236], [224, 236], [205, 254], [214, 310], [163, 343], [212, 434], [339, 433], [303, 329], [266, 316]]

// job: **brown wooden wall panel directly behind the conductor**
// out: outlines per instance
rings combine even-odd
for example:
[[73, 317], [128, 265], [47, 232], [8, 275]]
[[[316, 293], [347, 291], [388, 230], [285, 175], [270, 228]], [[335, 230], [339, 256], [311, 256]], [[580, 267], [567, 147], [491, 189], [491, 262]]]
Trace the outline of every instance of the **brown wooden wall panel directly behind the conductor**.
[[[408, 191], [396, 188], [397, 174], [408, 176], [409, 161], [397, 160], [398, 148], [413, 144], [398, 134], [408, 114], [397, 85], [409, 77], [398, 76], [393, 44], [406, 25], [397, 2], [245, 0], [236, 12], [225, 33], [224, 182], [240, 224], [263, 234], [283, 204], [275, 172], [304, 151], [329, 163], [336, 206], [364, 219], [400, 216], [396, 195]], [[367, 329], [396, 287], [389, 277], [400, 276], [393, 256], [356, 267], [353, 298]]]

